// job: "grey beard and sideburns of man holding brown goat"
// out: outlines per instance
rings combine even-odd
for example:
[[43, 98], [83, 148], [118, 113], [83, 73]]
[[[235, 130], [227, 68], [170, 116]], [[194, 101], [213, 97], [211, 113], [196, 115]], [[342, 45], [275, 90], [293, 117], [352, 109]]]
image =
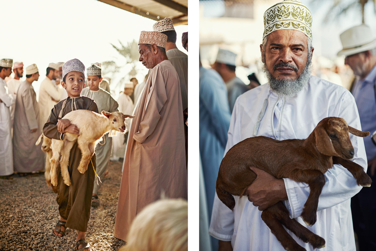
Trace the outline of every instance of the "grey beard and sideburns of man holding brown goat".
[[312, 73], [312, 64], [311, 64], [312, 63], [312, 56], [311, 56], [312, 40], [307, 37], [307, 44], [308, 44], [307, 63], [305, 65], [302, 73], [300, 73], [300, 76], [295, 80], [277, 79], [277, 78], [274, 78], [271, 75], [270, 71], [266, 67], [266, 62], [265, 62], [265, 47], [267, 45], [267, 41], [268, 41], [268, 36], [266, 36], [262, 40], [263, 53], [261, 55], [261, 61], [263, 63], [262, 70], [266, 74], [266, 77], [268, 79], [268, 84], [270, 86], [270, 90], [273, 91], [274, 93], [276, 93], [279, 96], [287, 96], [287, 97], [295, 96], [299, 91], [303, 90], [303, 88], [306, 87], [306, 85], [308, 84], [309, 78], [311, 78], [311, 73]]

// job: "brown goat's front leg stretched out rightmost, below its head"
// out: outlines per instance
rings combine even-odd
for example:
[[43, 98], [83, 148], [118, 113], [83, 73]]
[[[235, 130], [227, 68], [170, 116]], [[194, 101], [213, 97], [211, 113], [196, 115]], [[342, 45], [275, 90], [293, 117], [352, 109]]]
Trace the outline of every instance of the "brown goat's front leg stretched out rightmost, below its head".
[[367, 173], [364, 172], [364, 168], [356, 164], [355, 162], [351, 160], [344, 160], [343, 158], [340, 157], [332, 157], [333, 159], [333, 164], [340, 164], [341, 166], [345, 167], [347, 170], [350, 171], [350, 173], [354, 176], [356, 179], [356, 184], [358, 186], [362, 187], [370, 187], [372, 180], [370, 176], [367, 175]]

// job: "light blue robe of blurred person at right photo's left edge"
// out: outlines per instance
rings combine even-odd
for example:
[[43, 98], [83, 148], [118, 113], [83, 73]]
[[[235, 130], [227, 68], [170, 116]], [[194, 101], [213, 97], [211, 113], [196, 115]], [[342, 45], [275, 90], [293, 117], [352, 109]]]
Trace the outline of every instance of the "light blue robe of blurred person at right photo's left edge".
[[[231, 113], [226, 85], [217, 71], [200, 67], [199, 91], [200, 156], [210, 219]], [[215, 247], [213, 243], [213, 250]]]

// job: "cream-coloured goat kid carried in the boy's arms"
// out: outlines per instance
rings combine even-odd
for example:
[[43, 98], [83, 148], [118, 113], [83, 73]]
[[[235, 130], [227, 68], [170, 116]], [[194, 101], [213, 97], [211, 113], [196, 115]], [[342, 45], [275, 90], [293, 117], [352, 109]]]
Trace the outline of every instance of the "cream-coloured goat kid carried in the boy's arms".
[[124, 115], [120, 112], [108, 113], [106, 111], [102, 111], [102, 114], [98, 114], [88, 110], [76, 110], [66, 114], [62, 119], [68, 119], [71, 124], [76, 125], [79, 129], [79, 134], [66, 132], [64, 140], [52, 139], [51, 183], [54, 186], [58, 184], [56, 170], [59, 164], [60, 154], [61, 175], [64, 184], [70, 186], [71, 181], [68, 172], [68, 163], [74, 142], [77, 140], [78, 147], [82, 153], [77, 169], [80, 173], [85, 173], [88, 169], [89, 161], [95, 152], [96, 145], [102, 140], [102, 136], [111, 130], [125, 133], [126, 126], [124, 119], [126, 117], [133, 118], [134, 116]]

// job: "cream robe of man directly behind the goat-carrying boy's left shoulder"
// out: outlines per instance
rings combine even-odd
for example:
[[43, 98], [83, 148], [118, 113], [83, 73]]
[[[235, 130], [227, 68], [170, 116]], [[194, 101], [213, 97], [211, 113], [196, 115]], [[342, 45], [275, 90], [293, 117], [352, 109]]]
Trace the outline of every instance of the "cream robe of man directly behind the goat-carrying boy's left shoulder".
[[[65, 91], [61, 85], [55, 85], [49, 78], [45, 78], [39, 88], [39, 129], [42, 131], [44, 124], [51, 114], [53, 106], [60, 101], [61, 94]], [[54, 100], [53, 100], [54, 99]], [[56, 101], [55, 101], [56, 100]], [[38, 131], [39, 132], [39, 131]]]

